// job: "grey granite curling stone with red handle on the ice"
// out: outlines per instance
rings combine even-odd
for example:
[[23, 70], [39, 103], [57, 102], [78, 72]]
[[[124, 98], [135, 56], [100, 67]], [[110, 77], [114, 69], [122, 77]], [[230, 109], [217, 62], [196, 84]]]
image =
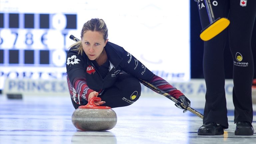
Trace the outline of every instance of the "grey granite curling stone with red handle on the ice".
[[96, 106], [94, 101], [101, 101], [100, 97], [93, 97], [87, 105], [79, 106], [72, 114], [73, 125], [83, 131], [103, 131], [112, 129], [117, 122], [114, 110], [108, 106]]

